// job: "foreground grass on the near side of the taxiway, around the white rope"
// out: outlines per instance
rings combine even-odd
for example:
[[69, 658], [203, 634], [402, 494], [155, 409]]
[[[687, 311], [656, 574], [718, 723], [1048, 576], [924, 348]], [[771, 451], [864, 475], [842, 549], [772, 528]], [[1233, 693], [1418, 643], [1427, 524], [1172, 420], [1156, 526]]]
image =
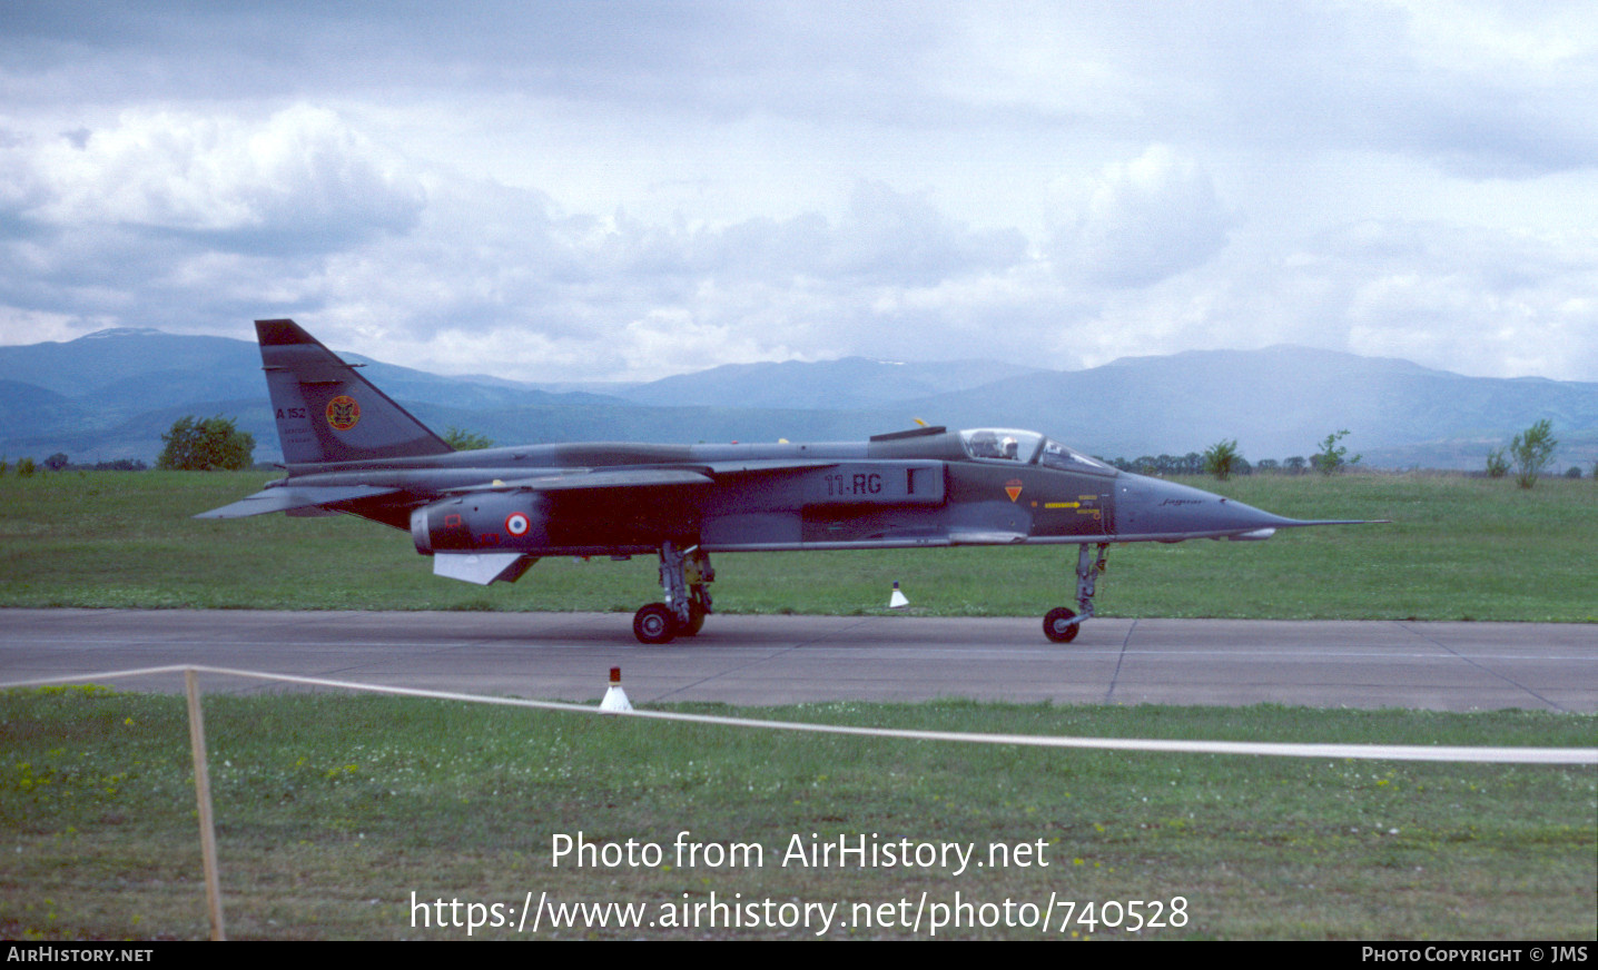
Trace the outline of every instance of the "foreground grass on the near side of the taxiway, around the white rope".
[[[716, 706], [694, 710], [722, 713]], [[1499, 711], [802, 705], [753, 718], [943, 730], [1438, 745], [1590, 745], [1592, 716]], [[793, 735], [374, 697], [209, 697], [235, 938], [465, 938], [425, 903], [1186, 900], [1141, 938], [1585, 938], [1590, 769], [1400, 764]], [[0, 694], [0, 935], [206, 933], [184, 705], [96, 687]], [[551, 839], [757, 842], [764, 865], [555, 868]], [[794, 834], [1043, 842], [1047, 866], [783, 866]], [[462, 914], [463, 919], [463, 914]], [[1058, 927], [1056, 927], [1058, 930]], [[1127, 938], [1074, 925], [944, 938]], [[812, 932], [548, 930], [545, 936]], [[912, 936], [839, 930], [833, 938]], [[920, 938], [925, 938], [924, 924]], [[478, 928], [475, 936], [516, 936]], [[532, 936], [524, 933], [523, 938]]]

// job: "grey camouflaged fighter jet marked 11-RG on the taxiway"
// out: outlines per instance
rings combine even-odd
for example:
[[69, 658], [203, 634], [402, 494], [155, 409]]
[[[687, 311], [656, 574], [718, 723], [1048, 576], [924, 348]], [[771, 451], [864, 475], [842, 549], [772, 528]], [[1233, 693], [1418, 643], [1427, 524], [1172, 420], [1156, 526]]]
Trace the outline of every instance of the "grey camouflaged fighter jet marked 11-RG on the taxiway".
[[195, 518], [348, 513], [407, 529], [436, 575], [516, 582], [540, 556], [655, 555], [646, 644], [713, 612], [711, 553], [1075, 545], [1075, 639], [1115, 542], [1269, 539], [1302, 521], [1119, 471], [1037, 431], [917, 427], [833, 444], [532, 444], [455, 451], [292, 320], [257, 320], [288, 475]]

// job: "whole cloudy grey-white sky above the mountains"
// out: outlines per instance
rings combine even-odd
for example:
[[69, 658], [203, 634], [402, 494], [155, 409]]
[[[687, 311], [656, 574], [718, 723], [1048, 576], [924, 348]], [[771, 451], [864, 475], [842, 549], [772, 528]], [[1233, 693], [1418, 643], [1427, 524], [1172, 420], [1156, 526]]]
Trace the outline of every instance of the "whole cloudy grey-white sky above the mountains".
[[1598, 380], [1598, 6], [0, 5], [0, 344]]

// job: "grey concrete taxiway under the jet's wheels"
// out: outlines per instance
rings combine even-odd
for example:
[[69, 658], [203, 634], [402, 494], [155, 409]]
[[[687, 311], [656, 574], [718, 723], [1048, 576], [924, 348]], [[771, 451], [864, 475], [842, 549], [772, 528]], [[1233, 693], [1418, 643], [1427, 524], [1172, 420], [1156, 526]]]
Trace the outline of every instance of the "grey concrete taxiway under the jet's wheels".
[[[625, 614], [0, 610], [0, 682], [74, 676], [174, 690], [205, 665], [529, 698], [1282, 703], [1598, 711], [1598, 625], [1119, 620], [1074, 644], [1032, 618], [711, 617], [646, 647]], [[284, 690], [208, 674], [205, 689]]]

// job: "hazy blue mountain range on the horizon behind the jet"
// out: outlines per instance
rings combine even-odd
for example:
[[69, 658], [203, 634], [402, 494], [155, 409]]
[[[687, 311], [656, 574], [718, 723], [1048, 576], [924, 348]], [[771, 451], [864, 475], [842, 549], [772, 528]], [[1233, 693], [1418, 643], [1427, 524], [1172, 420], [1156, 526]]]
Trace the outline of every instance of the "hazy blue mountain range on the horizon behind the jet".
[[[1107, 459], [1203, 451], [1310, 455], [1347, 428], [1377, 467], [1481, 468], [1544, 417], [1561, 467], [1598, 459], [1598, 384], [1464, 377], [1401, 360], [1304, 347], [1122, 358], [1087, 371], [997, 361], [729, 364], [649, 384], [535, 385], [443, 377], [360, 355], [364, 374], [439, 431], [502, 444], [555, 441], [853, 439], [912, 427], [1020, 427]], [[187, 414], [237, 417], [257, 460], [280, 460], [251, 340], [118, 328], [0, 347], [0, 455], [142, 459]]]

